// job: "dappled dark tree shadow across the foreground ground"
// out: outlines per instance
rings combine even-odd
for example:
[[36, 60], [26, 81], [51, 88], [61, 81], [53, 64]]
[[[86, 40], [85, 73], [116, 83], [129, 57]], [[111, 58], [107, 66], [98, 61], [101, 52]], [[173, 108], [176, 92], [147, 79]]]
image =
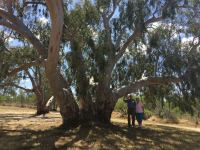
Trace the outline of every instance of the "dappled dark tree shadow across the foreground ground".
[[[15, 118], [17, 116], [15, 115]], [[11, 115], [0, 116], [9, 121]], [[27, 119], [21, 115], [21, 119]], [[50, 118], [49, 118], [50, 119]], [[5, 123], [5, 122], [4, 122]], [[48, 123], [48, 122], [46, 122]], [[16, 121], [17, 124], [17, 121]], [[55, 122], [56, 124], [56, 122]], [[38, 129], [44, 124], [38, 124]], [[17, 128], [0, 126], [0, 149], [200, 149], [200, 133], [176, 128], [148, 125], [143, 129], [128, 128], [125, 124], [84, 125], [71, 130], [51, 127], [34, 130], [18, 124]]]

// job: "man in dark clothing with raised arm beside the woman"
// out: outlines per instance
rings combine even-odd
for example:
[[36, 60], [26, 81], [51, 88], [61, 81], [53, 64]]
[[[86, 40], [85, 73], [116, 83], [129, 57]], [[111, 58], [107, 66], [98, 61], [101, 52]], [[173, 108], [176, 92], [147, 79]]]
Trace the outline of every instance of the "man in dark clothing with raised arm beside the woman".
[[136, 102], [132, 98], [131, 95], [128, 95], [126, 99], [124, 99], [124, 102], [127, 103], [127, 113], [128, 113], [128, 126], [131, 126], [131, 120], [132, 120], [132, 126], [135, 127], [135, 109], [136, 109]]

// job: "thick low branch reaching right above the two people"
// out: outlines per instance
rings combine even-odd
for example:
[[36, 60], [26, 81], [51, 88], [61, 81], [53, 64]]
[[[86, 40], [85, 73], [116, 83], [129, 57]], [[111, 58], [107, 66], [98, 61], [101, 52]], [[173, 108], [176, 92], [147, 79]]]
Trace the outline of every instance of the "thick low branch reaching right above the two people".
[[165, 84], [179, 83], [179, 82], [181, 82], [181, 79], [176, 77], [149, 77], [145, 80], [139, 80], [126, 87], [122, 87], [118, 90], [115, 90], [114, 94], [118, 99], [128, 93], [137, 92], [137, 90], [148, 85], [156, 85], [156, 84], [165, 85]]

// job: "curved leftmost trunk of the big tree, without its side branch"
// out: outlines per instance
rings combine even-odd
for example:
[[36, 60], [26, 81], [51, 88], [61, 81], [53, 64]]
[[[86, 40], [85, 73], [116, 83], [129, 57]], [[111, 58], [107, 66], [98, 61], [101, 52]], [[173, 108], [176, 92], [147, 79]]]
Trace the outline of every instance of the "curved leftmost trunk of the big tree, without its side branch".
[[73, 126], [79, 122], [79, 108], [70, 86], [57, 68], [63, 28], [63, 4], [61, 0], [46, 0], [46, 3], [50, 11], [52, 28], [45, 72], [53, 95], [58, 101], [63, 125]]

